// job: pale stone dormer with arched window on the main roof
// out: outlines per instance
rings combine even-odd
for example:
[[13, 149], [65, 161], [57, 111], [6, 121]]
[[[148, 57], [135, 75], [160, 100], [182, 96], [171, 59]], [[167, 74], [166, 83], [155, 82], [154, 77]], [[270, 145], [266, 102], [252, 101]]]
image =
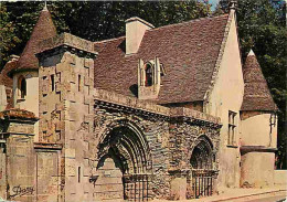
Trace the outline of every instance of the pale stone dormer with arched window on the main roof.
[[160, 91], [161, 64], [159, 59], [138, 62], [138, 98], [157, 99]]

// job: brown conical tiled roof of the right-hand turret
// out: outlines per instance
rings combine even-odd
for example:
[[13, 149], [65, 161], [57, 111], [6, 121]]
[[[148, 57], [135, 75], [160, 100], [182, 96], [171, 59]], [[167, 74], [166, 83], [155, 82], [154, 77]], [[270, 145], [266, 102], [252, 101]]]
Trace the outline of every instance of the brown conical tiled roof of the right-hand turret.
[[245, 87], [241, 110], [277, 110], [259, 63], [252, 50], [243, 67], [243, 78]]

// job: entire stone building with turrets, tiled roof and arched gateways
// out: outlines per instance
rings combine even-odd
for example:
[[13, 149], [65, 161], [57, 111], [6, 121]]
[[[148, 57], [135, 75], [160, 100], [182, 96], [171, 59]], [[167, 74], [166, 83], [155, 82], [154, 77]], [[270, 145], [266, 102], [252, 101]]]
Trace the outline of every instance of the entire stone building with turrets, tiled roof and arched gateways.
[[0, 76], [0, 196], [148, 201], [274, 185], [276, 110], [235, 11], [91, 42], [47, 9]]

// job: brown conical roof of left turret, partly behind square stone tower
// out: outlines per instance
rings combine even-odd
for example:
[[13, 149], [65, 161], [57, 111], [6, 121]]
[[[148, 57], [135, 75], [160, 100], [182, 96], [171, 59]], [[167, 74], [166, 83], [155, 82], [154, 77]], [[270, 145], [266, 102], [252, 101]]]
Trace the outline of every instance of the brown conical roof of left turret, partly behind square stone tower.
[[33, 32], [22, 52], [17, 67], [12, 72], [21, 70], [38, 70], [39, 61], [35, 56], [39, 42], [56, 35], [56, 28], [52, 21], [51, 14], [46, 7], [41, 11]]

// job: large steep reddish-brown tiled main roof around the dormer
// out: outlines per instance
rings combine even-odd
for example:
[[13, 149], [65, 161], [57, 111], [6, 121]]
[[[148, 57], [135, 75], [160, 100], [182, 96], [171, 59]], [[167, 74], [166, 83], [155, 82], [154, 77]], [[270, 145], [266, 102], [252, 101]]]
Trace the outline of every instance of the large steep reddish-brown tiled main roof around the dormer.
[[138, 53], [125, 54], [125, 36], [96, 42], [95, 87], [137, 96], [138, 60], [159, 57], [160, 104], [203, 100], [224, 39], [228, 15], [204, 18], [146, 31]]

